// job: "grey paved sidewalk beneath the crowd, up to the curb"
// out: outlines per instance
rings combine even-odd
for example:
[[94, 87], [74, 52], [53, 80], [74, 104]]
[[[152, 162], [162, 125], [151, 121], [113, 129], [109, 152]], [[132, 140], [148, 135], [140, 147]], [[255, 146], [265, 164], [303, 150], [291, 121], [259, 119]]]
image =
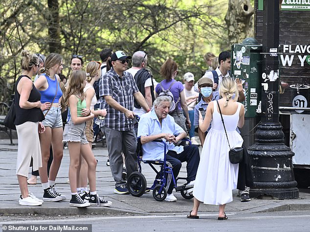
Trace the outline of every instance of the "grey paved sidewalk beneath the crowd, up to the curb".
[[[193, 200], [184, 199], [179, 192], [174, 192], [177, 202], [157, 202], [153, 198], [152, 191], [143, 194], [141, 197], [132, 195], [118, 195], [113, 193], [114, 180], [111, 176], [110, 167], [106, 165], [108, 159], [107, 148], [97, 146], [93, 148], [93, 153], [98, 160], [96, 179], [97, 192], [100, 196], [112, 202], [111, 207], [88, 207], [78, 209], [69, 206], [70, 186], [68, 180], [69, 154], [68, 149], [64, 149], [63, 161], [56, 179], [58, 191], [66, 195], [66, 200], [61, 202], [44, 202], [42, 206], [30, 207], [20, 206], [18, 203], [20, 189], [16, 177], [16, 157], [17, 157], [17, 139], [14, 139], [16, 145], [9, 145], [9, 139], [0, 139], [0, 215], [3, 214], [44, 214], [44, 215], [76, 215], [76, 214], [182, 214], [189, 212], [193, 207]], [[101, 145], [101, 144], [100, 144]], [[200, 147], [201, 151], [201, 147]], [[144, 174], [148, 186], [151, 186], [155, 172], [147, 164], [142, 164], [142, 173]], [[29, 168], [29, 177], [31, 168]], [[186, 163], [183, 163], [179, 177], [186, 177]], [[180, 183], [181, 184], [181, 183]], [[43, 189], [40, 179], [37, 185], [28, 185], [29, 191], [32, 191], [38, 198], [43, 197]], [[300, 189], [298, 199], [293, 200], [258, 200], [252, 199], [249, 202], [241, 202], [237, 196], [237, 190], [233, 191], [233, 202], [226, 205], [226, 212], [251, 213], [262, 211], [285, 211], [285, 210], [310, 210], [310, 189]], [[200, 213], [218, 212], [218, 206], [201, 204]]]

